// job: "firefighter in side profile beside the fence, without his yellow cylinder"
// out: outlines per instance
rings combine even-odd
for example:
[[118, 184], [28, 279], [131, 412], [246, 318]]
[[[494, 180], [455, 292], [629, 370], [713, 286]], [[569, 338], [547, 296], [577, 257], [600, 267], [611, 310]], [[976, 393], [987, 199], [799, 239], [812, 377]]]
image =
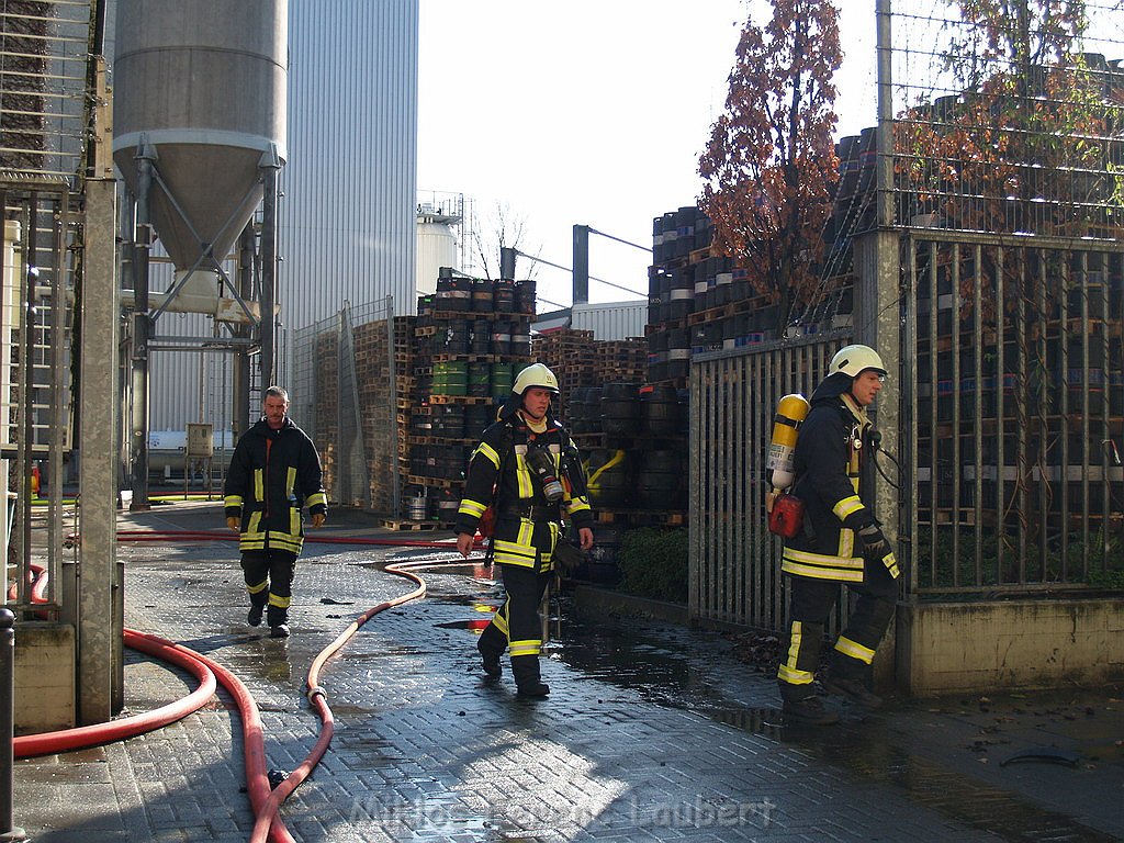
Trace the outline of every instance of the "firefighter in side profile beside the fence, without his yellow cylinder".
[[870, 664], [894, 615], [899, 571], [863, 496], [869, 492], [873, 438], [867, 408], [885, 378], [886, 366], [873, 348], [841, 348], [799, 425], [791, 492], [804, 502], [804, 526], [785, 541], [781, 570], [789, 577], [790, 636], [777, 674], [786, 717], [792, 720], [839, 719], [816, 695], [814, 680], [841, 582], [859, 598], [835, 642], [823, 686], [868, 708], [881, 704], [870, 691]]

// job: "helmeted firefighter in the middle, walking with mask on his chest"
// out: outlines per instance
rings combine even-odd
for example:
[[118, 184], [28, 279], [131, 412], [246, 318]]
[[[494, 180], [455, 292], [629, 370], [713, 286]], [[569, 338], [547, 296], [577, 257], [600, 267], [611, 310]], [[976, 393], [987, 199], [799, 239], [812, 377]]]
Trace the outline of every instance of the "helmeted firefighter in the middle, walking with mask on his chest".
[[469, 555], [480, 518], [492, 507], [491, 549], [507, 599], [477, 642], [484, 678], [500, 678], [500, 658], [507, 650], [520, 696], [544, 697], [550, 688], [538, 670], [538, 605], [553, 575], [563, 517], [577, 527], [581, 549], [588, 551], [593, 546], [593, 514], [578, 450], [550, 411], [551, 398], [559, 393], [558, 378], [534, 363], [516, 377], [511, 393], [469, 460], [456, 549]]

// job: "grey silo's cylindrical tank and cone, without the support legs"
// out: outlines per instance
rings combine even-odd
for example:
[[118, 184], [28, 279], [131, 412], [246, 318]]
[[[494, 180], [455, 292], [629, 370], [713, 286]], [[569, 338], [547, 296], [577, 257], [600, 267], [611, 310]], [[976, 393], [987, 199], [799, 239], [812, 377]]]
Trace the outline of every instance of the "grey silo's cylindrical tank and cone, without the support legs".
[[[229, 254], [285, 151], [288, 0], [119, 0], [114, 161], [178, 270]], [[264, 157], [263, 157], [264, 156]]]

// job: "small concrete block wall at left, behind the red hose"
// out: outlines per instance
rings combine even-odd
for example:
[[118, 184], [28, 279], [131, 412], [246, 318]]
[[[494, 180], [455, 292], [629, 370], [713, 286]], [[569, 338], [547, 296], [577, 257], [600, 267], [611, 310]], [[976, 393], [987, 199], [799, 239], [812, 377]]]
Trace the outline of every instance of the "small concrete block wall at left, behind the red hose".
[[16, 734], [73, 728], [74, 627], [39, 620], [16, 624]]

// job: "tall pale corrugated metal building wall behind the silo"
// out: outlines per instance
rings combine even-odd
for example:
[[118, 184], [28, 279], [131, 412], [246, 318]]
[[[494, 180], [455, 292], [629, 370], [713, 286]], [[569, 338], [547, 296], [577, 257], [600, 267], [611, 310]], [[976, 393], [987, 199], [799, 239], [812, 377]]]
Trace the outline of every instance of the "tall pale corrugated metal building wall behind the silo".
[[[388, 294], [399, 314], [415, 311], [418, 0], [290, 0], [289, 38], [281, 381], [289, 370], [289, 329], [336, 314], [345, 302]], [[165, 268], [154, 265], [152, 289], [170, 284]], [[160, 333], [207, 335], [210, 325], [166, 314]], [[202, 360], [155, 354], [149, 428], [183, 430], [196, 420], [228, 428], [230, 362], [215, 353]]]

